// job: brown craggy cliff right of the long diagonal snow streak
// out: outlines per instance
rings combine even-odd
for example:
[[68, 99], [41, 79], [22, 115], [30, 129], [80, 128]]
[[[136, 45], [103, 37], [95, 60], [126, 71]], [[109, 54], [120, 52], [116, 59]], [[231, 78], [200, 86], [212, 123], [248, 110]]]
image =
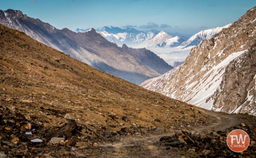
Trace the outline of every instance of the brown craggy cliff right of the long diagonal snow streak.
[[215, 111], [256, 115], [256, 45], [227, 65], [211, 99]]

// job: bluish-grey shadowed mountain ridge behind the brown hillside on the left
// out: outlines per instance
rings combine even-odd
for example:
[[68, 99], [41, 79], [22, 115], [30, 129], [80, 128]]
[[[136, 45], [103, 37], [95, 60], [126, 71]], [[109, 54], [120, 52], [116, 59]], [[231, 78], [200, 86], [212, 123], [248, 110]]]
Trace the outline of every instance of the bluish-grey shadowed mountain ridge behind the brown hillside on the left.
[[97, 34], [95, 29], [87, 30], [84, 33], [75, 33], [67, 28], [59, 30], [39, 19], [30, 18], [21, 11], [11, 9], [0, 10], [0, 23], [12, 29], [18, 29], [36, 41], [61, 50], [94, 68], [135, 84], [157, 77], [171, 69], [170, 65], [163, 60], [160, 61], [157, 56], [154, 63], [160, 61], [164, 64], [159, 63], [158, 69], [162, 69], [162, 73], [156, 72], [152, 69], [154, 66], [150, 68], [143, 65], [140, 63], [140, 60], [143, 59], [134, 59], [121, 47]]

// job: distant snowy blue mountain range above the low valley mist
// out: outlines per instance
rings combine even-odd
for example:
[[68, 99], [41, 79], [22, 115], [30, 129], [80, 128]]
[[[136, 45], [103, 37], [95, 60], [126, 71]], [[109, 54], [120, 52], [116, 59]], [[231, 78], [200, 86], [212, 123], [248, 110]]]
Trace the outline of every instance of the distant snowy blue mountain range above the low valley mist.
[[[150, 48], [150, 47], [190, 47], [197, 46], [204, 39], [209, 39], [214, 34], [220, 32], [223, 28], [229, 27], [231, 24], [224, 27], [216, 27], [213, 29], [206, 29], [194, 34], [183, 35], [179, 33], [168, 33], [158, 30], [140, 31], [134, 28], [125, 28], [113, 26], [105, 26], [95, 29], [97, 33], [112, 43], [121, 46], [123, 44], [134, 48]], [[87, 32], [90, 29], [79, 29], [75, 32]]]

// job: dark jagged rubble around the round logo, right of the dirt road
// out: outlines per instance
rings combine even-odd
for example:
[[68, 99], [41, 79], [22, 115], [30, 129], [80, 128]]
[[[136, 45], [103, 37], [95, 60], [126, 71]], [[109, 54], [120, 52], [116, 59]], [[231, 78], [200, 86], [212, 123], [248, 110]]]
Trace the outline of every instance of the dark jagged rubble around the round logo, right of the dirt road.
[[170, 136], [166, 135], [161, 137], [159, 140], [160, 147], [165, 150], [177, 147], [179, 150], [186, 151], [186, 156], [188, 157], [255, 157], [256, 153], [254, 150], [256, 147], [254, 146], [255, 142], [253, 140], [245, 151], [231, 152], [227, 146], [227, 140], [225, 138], [228, 133], [235, 129], [247, 131], [251, 138], [256, 136], [256, 133], [252, 132], [255, 131], [256, 128], [253, 125], [248, 126], [245, 124], [232, 126], [218, 131], [207, 130], [194, 133], [191, 133], [191, 131], [176, 131], [170, 134]]

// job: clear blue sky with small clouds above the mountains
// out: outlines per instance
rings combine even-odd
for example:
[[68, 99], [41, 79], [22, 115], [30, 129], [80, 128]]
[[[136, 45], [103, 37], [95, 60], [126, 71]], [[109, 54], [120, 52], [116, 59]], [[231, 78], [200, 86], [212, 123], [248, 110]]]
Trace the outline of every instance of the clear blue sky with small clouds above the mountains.
[[254, 6], [256, 0], [0, 0], [1, 10], [20, 10], [58, 29], [128, 25], [183, 34], [233, 23]]

